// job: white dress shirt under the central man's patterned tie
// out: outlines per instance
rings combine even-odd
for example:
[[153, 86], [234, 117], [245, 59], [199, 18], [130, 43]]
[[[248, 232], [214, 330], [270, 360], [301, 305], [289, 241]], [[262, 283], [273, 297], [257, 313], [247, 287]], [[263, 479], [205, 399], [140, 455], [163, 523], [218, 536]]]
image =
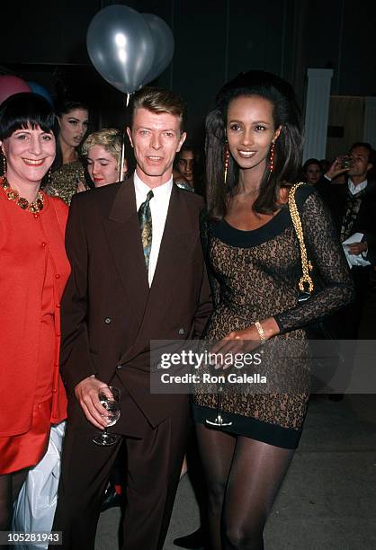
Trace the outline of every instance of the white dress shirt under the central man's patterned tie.
[[[148, 191], [150, 187], [139, 179], [138, 174], [135, 172], [133, 176], [134, 188], [136, 191], [136, 207], [139, 211], [139, 207], [145, 200], [147, 200]], [[151, 237], [151, 250], [150, 258], [148, 262], [148, 286], [151, 287], [153, 282], [154, 273], [157, 267], [159, 248], [162, 241], [163, 232], [165, 231], [166, 217], [168, 205], [170, 204], [171, 191], [173, 190], [173, 176], [171, 179], [154, 187], [154, 197], [150, 200], [150, 212], [152, 223], [152, 237]]]

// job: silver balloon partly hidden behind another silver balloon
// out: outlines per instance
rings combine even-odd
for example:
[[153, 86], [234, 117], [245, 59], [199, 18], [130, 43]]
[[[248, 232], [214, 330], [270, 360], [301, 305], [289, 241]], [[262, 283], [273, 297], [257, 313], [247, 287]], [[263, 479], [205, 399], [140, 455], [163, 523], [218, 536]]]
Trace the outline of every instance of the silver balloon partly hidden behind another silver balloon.
[[154, 13], [141, 13], [148, 22], [155, 44], [153, 65], [144, 78], [143, 84], [148, 84], [159, 76], [171, 63], [174, 55], [174, 35], [167, 23]]

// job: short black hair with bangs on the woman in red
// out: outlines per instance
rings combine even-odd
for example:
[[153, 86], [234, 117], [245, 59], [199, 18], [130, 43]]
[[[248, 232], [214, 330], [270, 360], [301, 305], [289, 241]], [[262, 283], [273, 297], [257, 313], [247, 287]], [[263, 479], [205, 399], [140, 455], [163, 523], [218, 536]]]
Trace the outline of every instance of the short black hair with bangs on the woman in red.
[[0, 105], [0, 139], [28, 126], [58, 135], [55, 112], [44, 97], [31, 92], [14, 93]]

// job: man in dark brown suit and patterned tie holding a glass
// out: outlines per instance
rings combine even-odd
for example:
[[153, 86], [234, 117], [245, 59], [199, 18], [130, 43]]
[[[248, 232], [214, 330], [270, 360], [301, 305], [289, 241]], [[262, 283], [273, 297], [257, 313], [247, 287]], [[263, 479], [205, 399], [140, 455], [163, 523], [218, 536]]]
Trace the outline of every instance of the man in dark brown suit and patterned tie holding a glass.
[[[69, 408], [53, 527], [69, 550], [94, 548], [121, 440], [127, 451], [124, 548], [158, 550], [165, 541], [189, 406], [187, 395], [150, 394], [149, 342], [197, 338], [211, 312], [199, 234], [202, 200], [172, 181], [183, 124], [184, 104], [173, 93], [136, 93], [128, 129], [136, 172], [72, 201], [72, 274], [61, 305]], [[150, 215], [151, 227], [142, 226]], [[107, 414], [98, 390], [107, 385], [121, 388], [121, 419], [110, 429], [121, 438], [98, 447], [94, 427], [103, 430]]]

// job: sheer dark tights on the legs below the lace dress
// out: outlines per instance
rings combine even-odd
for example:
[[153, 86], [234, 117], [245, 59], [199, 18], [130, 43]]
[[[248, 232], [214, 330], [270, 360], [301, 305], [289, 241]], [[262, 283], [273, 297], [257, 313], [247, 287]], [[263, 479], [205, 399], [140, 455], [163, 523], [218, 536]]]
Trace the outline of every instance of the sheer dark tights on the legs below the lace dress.
[[294, 451], [197, 424], [212, 550], [264, 550], [264, 525]]

